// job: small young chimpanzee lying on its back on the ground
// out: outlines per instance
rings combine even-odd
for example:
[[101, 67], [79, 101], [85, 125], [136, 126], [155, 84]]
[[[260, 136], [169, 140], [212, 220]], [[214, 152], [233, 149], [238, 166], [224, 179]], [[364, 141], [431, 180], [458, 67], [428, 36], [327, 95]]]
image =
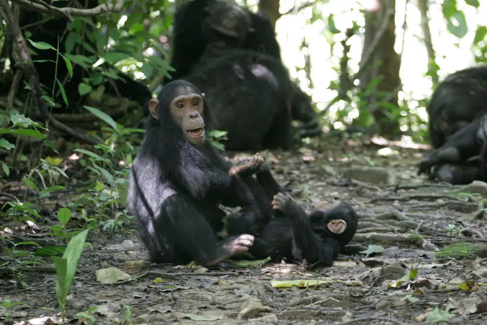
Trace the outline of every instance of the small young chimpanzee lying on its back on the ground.
[[340, 201], [329, 210], [308, 214], [282, 193], [268, 169], [262, 166], [256, 176], [258, 184], [253, 185], [252, 192], [260, 199], [258, 204], [262, 209], [272, 204], [276, 213], [270, 218], [267, 210], [261, 214], [230, 215], [228, 234], [254, 235], [254, 244], [248, 252], [255, 258], [269, 256], [273, 261], [287, 258], [331, 266], [356, 232], [358, 216], [352, 206]]

